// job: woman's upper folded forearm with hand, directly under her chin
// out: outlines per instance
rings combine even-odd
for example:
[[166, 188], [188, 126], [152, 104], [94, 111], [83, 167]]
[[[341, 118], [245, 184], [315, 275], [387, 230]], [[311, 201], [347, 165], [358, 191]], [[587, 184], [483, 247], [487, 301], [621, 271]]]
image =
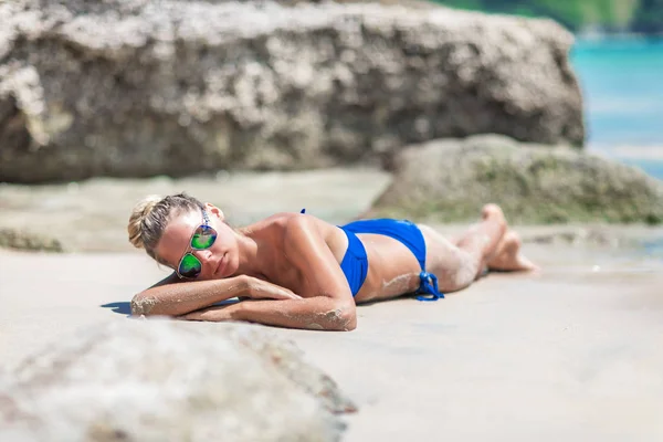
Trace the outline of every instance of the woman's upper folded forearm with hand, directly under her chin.
[[245, 275], [223, 280], [182, 282], [173, 274], [134, 296], [131, 314], [180, 316], [235, 296], [271, 299], [299, 298], [287, 288]]

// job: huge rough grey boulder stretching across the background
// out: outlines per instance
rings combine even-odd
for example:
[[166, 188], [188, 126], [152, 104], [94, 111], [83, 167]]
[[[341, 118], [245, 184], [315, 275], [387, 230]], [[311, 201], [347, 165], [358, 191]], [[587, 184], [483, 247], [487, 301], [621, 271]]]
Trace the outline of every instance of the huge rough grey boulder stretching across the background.
[[499, 133], [583, 143], [548, 20], [381, 4], [0, 4], [0, 181], [305, 169]]

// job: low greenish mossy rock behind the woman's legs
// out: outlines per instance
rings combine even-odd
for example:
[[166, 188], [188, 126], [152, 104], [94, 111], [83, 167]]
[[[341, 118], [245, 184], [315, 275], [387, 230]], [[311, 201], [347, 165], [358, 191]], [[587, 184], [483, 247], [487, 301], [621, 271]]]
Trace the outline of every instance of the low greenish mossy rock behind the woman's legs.
[[475, 136], [410, 147], [394, 165], [368, 215], [467, 221], [496, 202], [520, 223], [663, 221], [663, 182], [573, 149]]

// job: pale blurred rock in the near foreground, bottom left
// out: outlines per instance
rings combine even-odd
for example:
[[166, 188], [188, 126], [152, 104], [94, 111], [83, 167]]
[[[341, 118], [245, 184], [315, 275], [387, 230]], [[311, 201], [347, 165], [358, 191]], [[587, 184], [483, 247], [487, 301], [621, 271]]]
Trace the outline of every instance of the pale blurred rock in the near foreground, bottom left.
[[129, 320], [28, 358], [0, 383], [0, 440], [337, 441], [335, 383], [262, 327]]

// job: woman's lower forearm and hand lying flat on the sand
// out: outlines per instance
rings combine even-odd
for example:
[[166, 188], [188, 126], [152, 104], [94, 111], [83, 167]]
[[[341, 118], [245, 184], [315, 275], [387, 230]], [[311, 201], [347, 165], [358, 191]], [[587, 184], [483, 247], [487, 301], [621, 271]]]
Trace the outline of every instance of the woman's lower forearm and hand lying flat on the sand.
[[354, 301], [328, 296], [302, 299], [245, 301], [224, 307], [210, 307], [183, 316], [189, 320], [246, 320], [287, 328], [352, 330], [357, 326]]

